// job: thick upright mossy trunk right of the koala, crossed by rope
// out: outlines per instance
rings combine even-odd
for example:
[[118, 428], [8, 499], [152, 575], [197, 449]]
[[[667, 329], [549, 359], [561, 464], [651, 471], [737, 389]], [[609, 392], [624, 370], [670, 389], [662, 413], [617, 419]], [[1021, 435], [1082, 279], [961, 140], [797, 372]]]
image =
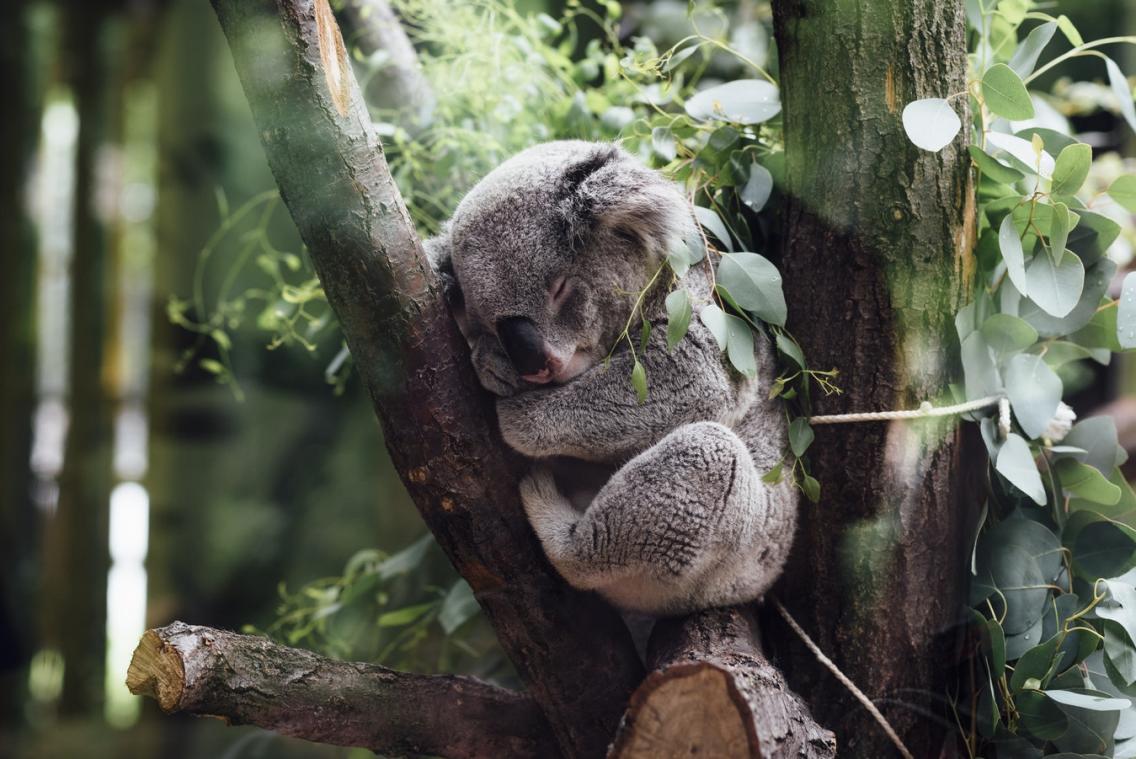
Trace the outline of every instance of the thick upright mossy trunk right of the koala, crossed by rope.
[[[952, 315], [970, 278], [966, 130], [939, 153], [905, 139], [903, 106], [966, 90], [961, 0], [774, 3], [784, 103], [788, 326], [842, 395], [815, 411], [913, 408], [951, 378]], [[966, 98], [954, 98], [966, 108]], [[963, 124], [969, 123], [960, 114]], [[944, 741], [950, 628], [968, 511], [955, 499], [957, 420], [819, 428], [778, 595], [877, 703], [916, 756]], [[784, 626], [786, 675], [842, 756], [894, 749]]]

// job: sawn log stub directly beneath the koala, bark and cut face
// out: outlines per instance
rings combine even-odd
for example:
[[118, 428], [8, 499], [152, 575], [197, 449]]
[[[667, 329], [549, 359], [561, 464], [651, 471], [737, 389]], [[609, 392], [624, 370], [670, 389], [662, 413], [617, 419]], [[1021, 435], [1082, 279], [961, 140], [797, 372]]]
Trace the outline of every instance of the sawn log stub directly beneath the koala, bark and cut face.
[[833, 734], [758, 644], [752, 609], [710, 609], [655, 626], [654, 669], [632, 695], [613, 759], [836, 756]]

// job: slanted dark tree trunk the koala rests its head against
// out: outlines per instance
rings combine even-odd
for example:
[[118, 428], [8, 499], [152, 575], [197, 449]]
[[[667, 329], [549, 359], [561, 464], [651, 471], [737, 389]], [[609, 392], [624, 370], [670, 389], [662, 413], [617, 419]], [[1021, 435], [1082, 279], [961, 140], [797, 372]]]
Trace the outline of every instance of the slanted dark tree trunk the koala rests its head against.
[[603, 753], [642, 677], [621, 620], [565, 585], [520, 508], [326, 0], [212, 0], [269, 166], [423, 518], [568, 756]]

